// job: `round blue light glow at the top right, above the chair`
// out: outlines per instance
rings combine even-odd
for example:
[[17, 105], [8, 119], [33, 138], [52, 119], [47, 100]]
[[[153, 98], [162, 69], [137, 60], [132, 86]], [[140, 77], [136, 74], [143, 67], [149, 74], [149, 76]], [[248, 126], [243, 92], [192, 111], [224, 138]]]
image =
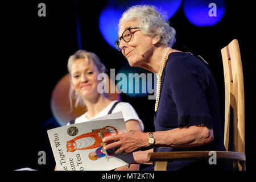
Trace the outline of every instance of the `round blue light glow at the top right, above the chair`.
[[223, 0], [185, 0], [183, 11], [195, 26], [209, 27], [220, 22], [225, 14], [225, 3]]

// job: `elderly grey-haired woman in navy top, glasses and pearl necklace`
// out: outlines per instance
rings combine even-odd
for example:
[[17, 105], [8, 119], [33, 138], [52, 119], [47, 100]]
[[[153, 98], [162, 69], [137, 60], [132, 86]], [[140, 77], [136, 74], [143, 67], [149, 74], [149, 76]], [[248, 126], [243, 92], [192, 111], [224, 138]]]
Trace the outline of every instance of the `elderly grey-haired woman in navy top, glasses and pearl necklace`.
[[[105, 149], [134, 152], [135, 163], [147, 163], [148, 152], [225, 151], [218, 92], [204, 61], [172, 49], [175, 30], [154, 6], [130, 7], [119, 20], [115, 47], [131, 67], [141, 67], [158, 76], [155, 102], [155, 132], [129, 131], [106, 137]], [[142, 150], [142, 151], [139, 151]], [[225, 169], [220, 162], [176, 161], [167, 169]]]

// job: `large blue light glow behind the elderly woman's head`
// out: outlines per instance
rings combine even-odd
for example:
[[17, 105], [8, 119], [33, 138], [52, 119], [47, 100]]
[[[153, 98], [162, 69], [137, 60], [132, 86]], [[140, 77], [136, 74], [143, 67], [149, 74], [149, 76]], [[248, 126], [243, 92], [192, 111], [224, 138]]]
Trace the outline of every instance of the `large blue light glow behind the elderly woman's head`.
[[105, 41], [114, 47], [115, 40], [118, 38], [118, 22], [122, 13], [127, 7], [134, 5], [154, 5], [161, 11], [167, 12], [170, 19], [179, 10], [182, 0], [158, 0], [158, 1], [122, 1], [110, 0], [102, 10], [99, 18], [99, 28]]

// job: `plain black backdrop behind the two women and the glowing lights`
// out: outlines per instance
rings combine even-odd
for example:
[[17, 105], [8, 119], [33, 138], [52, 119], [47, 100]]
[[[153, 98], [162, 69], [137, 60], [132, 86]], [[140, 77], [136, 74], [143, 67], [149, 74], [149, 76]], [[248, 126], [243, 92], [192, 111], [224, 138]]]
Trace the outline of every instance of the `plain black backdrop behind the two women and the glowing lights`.
[[[38, 16], [38, 4], [46, 4], [46, 17]], [[108, 69], [126, 64], [121, 52], [110, 47], [100, 34], [98, 18], [106, 1], [1, 1], [2, 152], [7, 170], [30, 167], [50, 171], [55, 167], [47, 130], [59, 126], [50, 108], [56, 83], [67, 74], [67, 60], [77, 51], [76, 13], [79, 15], [82, 49], [96, 53]], [[245, 80], [246, 169], [254, 170], [252, 63], [250, 42], [255, 22], [252, 5], [226, 1], [226, 12], [212, 27], [189, 23], [182, 5], [172, 16], [177, 42], [173, 48], [201, 55], [216, 78], [224, 118], [224, 76], [220, 49], [238, 39]], [[117, 73], [117, 71], [116, 71]], [[130, 98], [144, 122], [154, 130], [154, 100]], [[224, 119], [223, 119], [224, 121]], [[38, 152], [46, 151], [46, 165], [38, 164]]]

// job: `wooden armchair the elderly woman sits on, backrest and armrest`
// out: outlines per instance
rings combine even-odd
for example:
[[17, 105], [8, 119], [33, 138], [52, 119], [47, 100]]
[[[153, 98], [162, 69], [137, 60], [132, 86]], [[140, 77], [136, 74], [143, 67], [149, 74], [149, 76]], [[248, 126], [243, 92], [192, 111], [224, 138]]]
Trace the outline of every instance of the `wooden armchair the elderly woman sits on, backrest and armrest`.
[[[245, 105], [243, 71], [238, 40], [221, 49], [225, 79], [226, 151], [216, 151], [217, 160], [233, 160], [233, 169], [245, 170]], [[155, 163], [155, 171], [166, 171], [167, 162], [174, 160], [209, 160], [210, 151], [152, 152], [148, 162]]]

